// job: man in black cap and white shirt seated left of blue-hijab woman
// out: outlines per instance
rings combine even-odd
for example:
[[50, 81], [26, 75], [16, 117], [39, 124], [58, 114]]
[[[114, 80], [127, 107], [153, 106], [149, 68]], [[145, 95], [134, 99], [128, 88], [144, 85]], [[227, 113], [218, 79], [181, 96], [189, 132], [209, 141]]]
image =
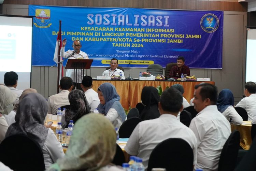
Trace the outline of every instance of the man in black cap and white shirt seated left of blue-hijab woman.
[[93, 90], [93, 79], [90, 76], [84, 76], [81, 87], [84, 90], [86, 100], [91, 106], [91, 112], [94, 112], [100, 104], [100, 99], [98, 97], [98, 93]]

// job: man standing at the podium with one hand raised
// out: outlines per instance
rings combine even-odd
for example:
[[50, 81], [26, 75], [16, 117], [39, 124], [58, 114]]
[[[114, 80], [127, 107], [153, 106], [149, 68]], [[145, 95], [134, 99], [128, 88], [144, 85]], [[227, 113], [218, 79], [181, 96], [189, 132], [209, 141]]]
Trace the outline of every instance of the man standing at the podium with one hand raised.
[[[69, 55], [71, 55], [69, 57], [69, 59], [89, 59], [88, 58], [88, 55], [85, 53], [85, 52], [82, 52], [80, 49], [82, 47], [81, 45], [81, 42], [79, 40], [75, 40], [73, 42], [73, 45], [72, 47], [74, 48], [74, 51], [72, 50], [68, 50], [67, 52], [65, 52], [65, 46], [66, 46], [66, 43], [67, 43], [67, 40], [66, 39], [63, 39], [62, 41], [62, 47], [60, 49], [60, 56], [63, 57], [63, 58], [67, 58]], [[78, 73], [77, 73], [78, 72]], [[76, 89], [80, 89], [82, 90], [81, 88], [81, 82], [82, 82], [82, 77], [84, 76], [83, 75], [83, 70], [75, 70], [75, 73], [74, 73], [74, 70], [73, 69], [68, 69], [67, 72], [66, 72], [66, 76], [70, 77], [70, 78], [74, 78], [74, 87], [73, 89], [76, 87]]]

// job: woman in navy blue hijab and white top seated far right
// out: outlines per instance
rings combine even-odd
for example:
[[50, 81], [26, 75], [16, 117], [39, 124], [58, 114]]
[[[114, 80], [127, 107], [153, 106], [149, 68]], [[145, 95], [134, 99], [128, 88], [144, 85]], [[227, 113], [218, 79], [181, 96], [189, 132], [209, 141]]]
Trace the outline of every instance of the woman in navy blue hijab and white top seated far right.
[[218, 111], [221, 112], [228, 121], [231, 118], [231, 122], [235, 125], [241, 125], [243, 118], [234, 109], [234, 96], [229, 89], [223, 89], [219, 92], [217, 100]]

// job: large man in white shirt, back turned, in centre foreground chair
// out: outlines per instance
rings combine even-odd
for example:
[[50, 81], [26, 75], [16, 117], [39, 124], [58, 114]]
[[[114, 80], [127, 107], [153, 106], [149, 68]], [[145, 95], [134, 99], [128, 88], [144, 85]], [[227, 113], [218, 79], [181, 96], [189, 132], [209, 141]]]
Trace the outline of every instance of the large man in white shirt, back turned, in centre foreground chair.
[[183, 109], [182, 101], [181, 92], [172, 87], [166, 89], [163, 91], [158, 104], [160, 117], [142, 121], [133, 130], [125, 146], [125, 151], [129, 155], [142, 158], [145, 169], [153, 149], [168, 138], [181, 138], [187, 141], [193, 149], [193, 163], [196, 164], [197, 141], [195, 134], [177, 120], [177, 114]]

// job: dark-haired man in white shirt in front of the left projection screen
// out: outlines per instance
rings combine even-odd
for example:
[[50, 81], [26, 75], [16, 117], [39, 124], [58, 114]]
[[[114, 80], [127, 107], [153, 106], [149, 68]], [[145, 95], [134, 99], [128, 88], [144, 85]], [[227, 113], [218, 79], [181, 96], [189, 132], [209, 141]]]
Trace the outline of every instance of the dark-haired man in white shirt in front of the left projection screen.
[[4, 74], [4, 84], [11, 89], [17, 95], [16, 100], [13, 104], [19, 103], [19, 97], [22, 94], [23, 90], [16, 89], [18, 85], [18, 74], [16, 72], [10, 71]]

